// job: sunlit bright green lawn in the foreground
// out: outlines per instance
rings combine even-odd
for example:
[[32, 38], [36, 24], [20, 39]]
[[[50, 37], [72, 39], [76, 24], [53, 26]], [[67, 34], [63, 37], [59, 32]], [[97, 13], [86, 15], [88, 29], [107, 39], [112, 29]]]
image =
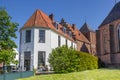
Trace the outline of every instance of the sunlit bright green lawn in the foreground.
[[120, 80], [120, 70], [96, 69], [67, 74], [39, 75], [19, 80]]

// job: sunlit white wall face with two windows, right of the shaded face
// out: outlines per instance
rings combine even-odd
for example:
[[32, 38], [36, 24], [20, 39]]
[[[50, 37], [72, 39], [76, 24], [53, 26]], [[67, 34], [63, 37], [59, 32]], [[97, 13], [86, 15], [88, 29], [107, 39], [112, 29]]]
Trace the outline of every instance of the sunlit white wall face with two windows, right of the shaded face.
[[[39, 43], [39, 30], [45, 30], [45, 43]], [[34, 68], [38, 67], [38, 52], [45, 51], [46, 59], [45, 64], [48, 65], [48, 56], [51, 52], [51, 40], [50, 40], [50, 29], [35, 28], [34, 29]]]

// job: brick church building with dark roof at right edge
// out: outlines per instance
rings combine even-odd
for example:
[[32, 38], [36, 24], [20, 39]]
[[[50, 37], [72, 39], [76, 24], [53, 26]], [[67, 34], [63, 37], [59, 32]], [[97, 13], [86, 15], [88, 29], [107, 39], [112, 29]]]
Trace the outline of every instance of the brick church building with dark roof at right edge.
[[97, 55], [107, 65], [120, 66], [120, 2], [104, 19], [97, 35]]

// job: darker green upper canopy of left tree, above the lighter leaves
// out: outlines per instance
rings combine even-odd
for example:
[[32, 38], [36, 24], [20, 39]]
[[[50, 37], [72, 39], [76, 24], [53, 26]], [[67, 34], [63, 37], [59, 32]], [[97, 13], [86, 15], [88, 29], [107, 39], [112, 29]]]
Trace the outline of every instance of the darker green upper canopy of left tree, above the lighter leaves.
[[12, 40], [17, 38], [15, 32], [18, 30], [18, 23], [11, 21], [7, 11], [4, 8], [0, 8], [0, 48], [1, 49], [12, 49], [16, 48], [17, 45]]

